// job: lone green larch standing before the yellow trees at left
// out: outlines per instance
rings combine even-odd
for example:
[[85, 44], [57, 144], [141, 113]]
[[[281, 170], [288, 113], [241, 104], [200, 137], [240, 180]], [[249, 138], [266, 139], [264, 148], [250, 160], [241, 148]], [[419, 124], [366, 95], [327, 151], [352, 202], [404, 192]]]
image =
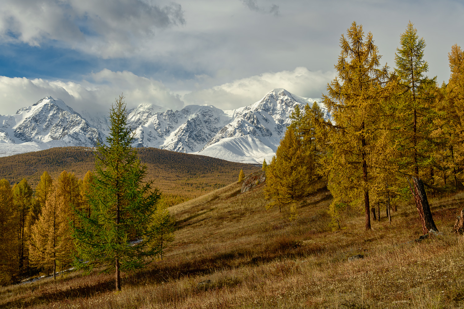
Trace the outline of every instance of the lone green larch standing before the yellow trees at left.
[[97, 147], [95, 176], [87, 193], [90, 217], [75, 208], [79, 224], [73, 234], [77, 256], [85, 261], [76, 259], [77, 268], [104, 266], [105, 271], [114, 271], [116, 290], [121, 290], [121, 271], [143, 267], [162, 250], [154, 242], [160, 232], [154, 220], [160, 192], [151, 188], [152, 183], [142, 183], [146, 167], [132, 147], [123, 99], [116, 99], [110, 109], [106, 145]]

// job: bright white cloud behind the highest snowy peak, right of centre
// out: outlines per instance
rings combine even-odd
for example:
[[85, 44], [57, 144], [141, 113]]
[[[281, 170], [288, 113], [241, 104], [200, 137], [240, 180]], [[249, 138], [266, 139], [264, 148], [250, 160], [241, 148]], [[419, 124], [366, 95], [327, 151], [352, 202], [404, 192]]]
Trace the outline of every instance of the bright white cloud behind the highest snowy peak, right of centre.
[[186, 104], [211, 104], [222, 109], [234, 109], [254, 103], [274, 88], [285, 88], [295, 95], [318, 98], [334, 77], [334, 72], [313, 72], [305, 67], [297, 67], [293, 71], [263, 73], [193, 91], [183, 98]]

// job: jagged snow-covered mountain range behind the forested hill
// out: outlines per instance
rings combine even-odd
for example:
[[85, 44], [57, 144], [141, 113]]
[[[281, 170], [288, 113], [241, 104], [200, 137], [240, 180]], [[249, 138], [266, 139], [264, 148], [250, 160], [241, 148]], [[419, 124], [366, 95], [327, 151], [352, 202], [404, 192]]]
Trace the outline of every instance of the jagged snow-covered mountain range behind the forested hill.
[[[296, 105], [321, 104], [284, 89], [235, 110], [189, 105], [163, 111], [154, 105], [129, 110], [135, 147], [197, 153], [230, 161], [262, 163], [277, 150]], [[327, 114], [327, 117], [328, 114]], [[46, 97], [15, 115], [0, 116], [0, 156], [56, 146], [93, 146], [108, 135], [107, 115], [76, 113], [59, 99]]]

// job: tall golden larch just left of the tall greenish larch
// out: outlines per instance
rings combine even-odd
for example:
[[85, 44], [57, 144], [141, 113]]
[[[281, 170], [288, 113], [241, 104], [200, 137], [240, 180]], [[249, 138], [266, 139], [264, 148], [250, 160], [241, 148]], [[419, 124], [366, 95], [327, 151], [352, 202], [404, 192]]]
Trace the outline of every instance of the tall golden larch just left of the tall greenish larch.
[[331, 208], [363, 202], [369, 230], [372, 189], [369, 173], [388, 71], [387, 66], [379, 68], [381, 56], [372, 34], [365, 36], [356, 22], [348, 28], [348, 38], [342, 35], [340, 46], [342, 51], [335, 65], [338, 76], [327, 85], [328, 95], [323, 95], [336, 128], [329, 137], [330, 154], [324, 158], [324, 169], [334, 196]]

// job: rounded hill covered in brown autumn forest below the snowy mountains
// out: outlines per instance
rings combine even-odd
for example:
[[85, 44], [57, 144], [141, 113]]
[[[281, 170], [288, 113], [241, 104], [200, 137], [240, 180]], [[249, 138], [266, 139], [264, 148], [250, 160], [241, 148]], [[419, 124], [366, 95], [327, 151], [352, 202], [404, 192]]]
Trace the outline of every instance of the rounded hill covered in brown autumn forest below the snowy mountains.
[[[245, 175], [259, 169], [251, 164], [157, 148], [140, 148], [138, 153], [142, 164], [147, 165], [145, 180], [153, 180], [165, 195], [178, 196], [181, 201], [233, 183], [240, 169]], [[93, 155], [93, 149], [88, 147], [56, 147], [3, 157], [0, 179], [13, 184], [26, 178], [35, 188], [45, 170], [52, 178], [63, 170], [82, 178], [87, 170], [94, 169]]]

